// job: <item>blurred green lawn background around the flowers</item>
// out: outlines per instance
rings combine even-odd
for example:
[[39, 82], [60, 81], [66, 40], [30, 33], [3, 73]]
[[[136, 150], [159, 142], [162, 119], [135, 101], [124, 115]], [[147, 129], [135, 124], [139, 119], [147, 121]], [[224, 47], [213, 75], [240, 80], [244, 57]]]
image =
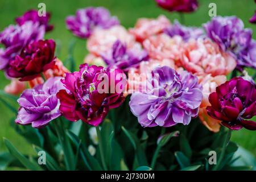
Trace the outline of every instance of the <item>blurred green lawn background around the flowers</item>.
[[[159, 14], [166, 15], [171, 22], [179, 19], [179, 14], [168, 13], [156, 6], [154, 0], [0, 0], [0, 31], [9, 24], [14, 23], [17, 16], [22, 15], [29, 9], [37, 9], [38, 3], [46, 3], [46, 10], [52, 14], [51, 24], [55, 26], [52, 32], [46, 35], [47, 39], [55, 39], [60, 46], [59, 59], [64, 60], [68, 54], [68, 44], [71, 40], [76, 40], [74, 58], [76, 67], [82, 63], [86, 55], [85, 40], [76, 38], [65, 28], [65, 18], [68, 15], [75, 14], [77, 9], [87, 6], [104, 6], [110, 12], [118, 16], [121, 24], [126, 28], [133, 27], [138, 18], [156, 18]], [[256, 39], [256, 24], [250, 24], [249, 18], [256, 10], [254, 0], [199, 0], [199, 9], [192, 14], [185, 14], [184, 20], [187, 26], [201, 26], [207, 22], [210, 17], [208, 15], [209, 3], [214, 2], [217, 5], [217, 15], [230, 16], [236, 15], [243, 20], [245, 27], [252, 28], [253, 37]], [[0, 72], [0, 89], [3, 89], [9, 81], [6, 80], [2, 72]], [[9, 139], [19, 151], [25, 154], [34, 154], [32, 147], [27, 144], [26, 140], [15, 133], [10, 126], [14, 123], [15, 115], [9, 109], [0, 103], [0, 151], [6, 150], [2, 138]], [[255, 132], [248, 130], [233, 131], [232, 140], [240, 144], [240, 146], [251, 151], [256, 156], [256, 137]]]

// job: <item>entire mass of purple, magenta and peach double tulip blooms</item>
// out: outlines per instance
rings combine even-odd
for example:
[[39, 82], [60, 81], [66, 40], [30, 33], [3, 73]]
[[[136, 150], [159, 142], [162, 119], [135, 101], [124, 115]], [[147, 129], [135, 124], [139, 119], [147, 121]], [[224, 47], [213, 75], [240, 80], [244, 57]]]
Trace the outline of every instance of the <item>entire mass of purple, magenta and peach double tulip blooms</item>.
[[[169, 11], [198, 6], [197, 1], [156, 2]], [[214, 17], [202, 28], [172, 24], [160, 15], [138, 19], [126, 30], [102, 7], [80, 9], [68, 16], [67, 28], [88, 39], [89, 53], [75, 72], [55, 56], [55, 42], [43, 39], [52, 29], [48, 20], [49, 14], [41, 18], [31, 10], [0, 34], [5, 46], [0, 68], [12, 78], [6, 91], [22, 92], [26, 85], [19, 81], [31, 87], [20, 95], [16, 123], [40, 128], [63, 116], [98, 126], [110, 109], [130, 98], [142, 127], [189, 125], [198, 118], [213, 132], [221, 125], [256, 129], [247, 120], [256, 115], [253, 79], [243, 71], [243, 77], [227, 81], [236, 69], [256, 68], [252, 31], [237, 17]]]

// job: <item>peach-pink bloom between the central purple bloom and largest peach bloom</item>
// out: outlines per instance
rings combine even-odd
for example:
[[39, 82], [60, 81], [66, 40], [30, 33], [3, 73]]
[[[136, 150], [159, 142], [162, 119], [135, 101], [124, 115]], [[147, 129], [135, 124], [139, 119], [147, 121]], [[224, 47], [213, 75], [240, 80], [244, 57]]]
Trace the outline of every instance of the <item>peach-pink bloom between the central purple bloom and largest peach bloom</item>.
[[150, 36], [150, 38], [143, 42], [144, 49], [146, 49], [151, 59], [171, 59], [175, 63], [180, 60], [180, 52], [183, 44], [184, 42], [181, 36], [170, 38], [166, 34]]

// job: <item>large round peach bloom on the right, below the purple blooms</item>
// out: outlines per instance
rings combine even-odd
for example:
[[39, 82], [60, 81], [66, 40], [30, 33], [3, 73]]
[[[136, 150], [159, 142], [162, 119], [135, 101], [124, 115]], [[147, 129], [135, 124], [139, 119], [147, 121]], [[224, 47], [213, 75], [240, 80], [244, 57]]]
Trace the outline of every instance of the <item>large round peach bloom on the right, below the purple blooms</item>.
[[196, 75], [228, 75], [236, 67], [236, 60], [229, 53], [222, 52], [209, 39], [191, 39], [184, 44], [181, 64]]

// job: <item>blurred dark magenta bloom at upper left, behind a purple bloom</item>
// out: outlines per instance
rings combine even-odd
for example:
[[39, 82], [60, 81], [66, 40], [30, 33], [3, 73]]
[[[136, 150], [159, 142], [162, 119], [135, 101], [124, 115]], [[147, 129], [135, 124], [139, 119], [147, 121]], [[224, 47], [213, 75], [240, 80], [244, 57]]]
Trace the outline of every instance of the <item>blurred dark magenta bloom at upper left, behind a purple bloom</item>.
[[39, 16], [37, 10], [29, 10], [24, 13], [22, 16], [15, 19], [16, 23], [20, 26], [28, 21], [32, 21], [33, 23], [38, 22], [39, 25], [43, 25], [46, 31], [51, 31], [53, 29], [52, 24], [49, 23], [49, 19], [51, 18], [51, 14], [46, 13], [45, 16]]

